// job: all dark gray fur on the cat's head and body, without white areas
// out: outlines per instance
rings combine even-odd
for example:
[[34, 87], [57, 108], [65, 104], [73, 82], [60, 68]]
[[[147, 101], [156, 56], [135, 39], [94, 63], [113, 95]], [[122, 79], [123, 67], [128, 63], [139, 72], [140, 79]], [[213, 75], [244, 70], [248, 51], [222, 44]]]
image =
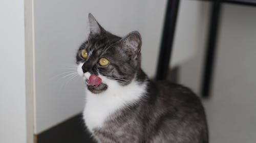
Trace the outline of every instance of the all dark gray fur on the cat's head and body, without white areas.
[[[123, 86], [135, 79], [147, 83], [147, 90], [139, 101], [113, 113], [101, 128], [94, 128], [95, 138], [101, 143], [207, 143], [208, 129], [200, 99], [182, 85], [153, 82], [141, 70], [139, 33], [120, 38], [106, 32], [99, 24], [98, 28], [77, 52], [77, 63], [86, 62], [82, 67], [84, 72], [124, 79], [119, 81]], [[81, 58], [82, 49], [91, 53], [89, 60]], [[108, 58], [111, 64], [100, 67], [97, 62], [101, 57]], [[108, 85], [103, 86], [105, 89], [94, 90], [104, 92]]]

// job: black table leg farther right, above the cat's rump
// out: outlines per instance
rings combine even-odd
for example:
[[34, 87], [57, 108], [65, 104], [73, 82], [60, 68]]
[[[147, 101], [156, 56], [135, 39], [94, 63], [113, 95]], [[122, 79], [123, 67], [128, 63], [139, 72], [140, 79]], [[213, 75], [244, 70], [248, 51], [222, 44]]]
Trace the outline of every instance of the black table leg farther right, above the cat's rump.
[[208, 41], [205, 53], [204, 73], [201, 85], [201, 95], [210, 96], [212, 82], [212, 73], [214, 71], [214, 61], [216, 53], [216, 41], [218, 36], [218, 27], [221, 13], [221, 3], [214, 2], [211, 7], [210, 25], [208, 32]]

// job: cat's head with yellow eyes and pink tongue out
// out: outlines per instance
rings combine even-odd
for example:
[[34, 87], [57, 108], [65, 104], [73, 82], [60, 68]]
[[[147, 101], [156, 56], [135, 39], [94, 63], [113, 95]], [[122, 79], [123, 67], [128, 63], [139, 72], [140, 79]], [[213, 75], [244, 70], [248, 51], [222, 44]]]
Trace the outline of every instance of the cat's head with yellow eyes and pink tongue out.
[[140, 70], [141, 36], [131, 32], [123, 38], [104, 30], [89, 14], [90, 34], [78, 49], [78, 74], [92, 93], [101, 93], [111, 84], [129, 85]]

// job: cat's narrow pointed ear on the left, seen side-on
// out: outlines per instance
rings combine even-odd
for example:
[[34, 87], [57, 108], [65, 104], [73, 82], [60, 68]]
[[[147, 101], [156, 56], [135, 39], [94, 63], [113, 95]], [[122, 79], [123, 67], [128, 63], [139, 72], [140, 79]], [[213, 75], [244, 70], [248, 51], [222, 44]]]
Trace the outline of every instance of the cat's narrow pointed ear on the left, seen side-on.
[[100, 26], [100, 24], [97, 22], [97, 20], [94, 18], [94, 16], [91, 13], [88, 14], [88, 19], [89, 19], [90, 35], [99, 35], [101, 32], [104, 31], [104, 29]]

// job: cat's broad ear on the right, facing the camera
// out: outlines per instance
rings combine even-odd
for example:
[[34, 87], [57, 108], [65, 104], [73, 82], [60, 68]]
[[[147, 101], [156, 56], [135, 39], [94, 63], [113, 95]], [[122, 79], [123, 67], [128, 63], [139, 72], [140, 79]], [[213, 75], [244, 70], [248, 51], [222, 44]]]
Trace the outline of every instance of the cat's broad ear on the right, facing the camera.
[[141, 49], [141, 36], [139, 32], [134, 31], [127, 34], [120, 40], [122, 48], [131, 53], [135, 58], [138, 58]]

